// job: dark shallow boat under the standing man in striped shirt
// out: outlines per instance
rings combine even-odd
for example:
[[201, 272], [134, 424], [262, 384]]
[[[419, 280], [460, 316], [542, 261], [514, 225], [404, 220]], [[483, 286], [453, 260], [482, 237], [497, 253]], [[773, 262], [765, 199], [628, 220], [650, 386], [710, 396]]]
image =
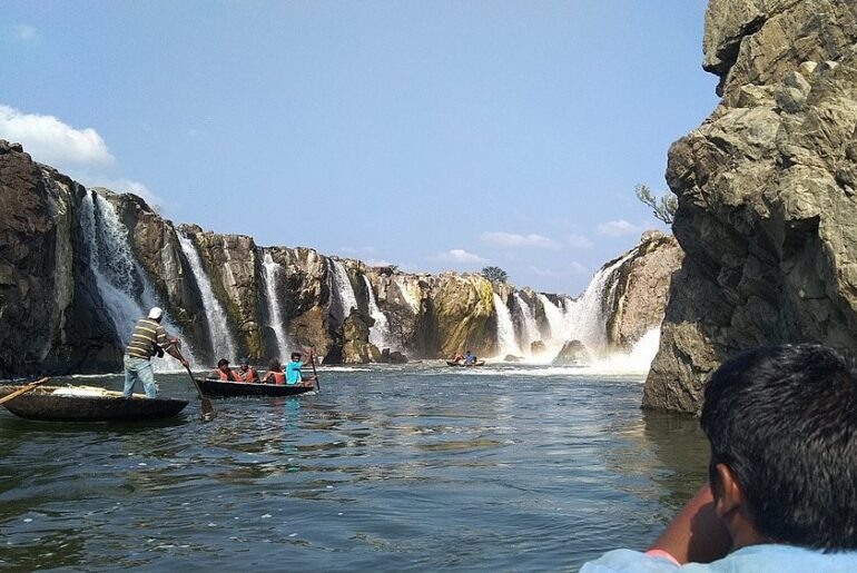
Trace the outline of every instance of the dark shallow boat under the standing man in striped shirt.
[[[4, 386], [0, 396], [18, 389]], [[132, 422], [160, 419], [177, 415], [188, 402], [176, 398], [147, 398], [135, 394], [92, 387], [42, 386], [22, 394], [3, 406], [22, 418], [51, 422]]]

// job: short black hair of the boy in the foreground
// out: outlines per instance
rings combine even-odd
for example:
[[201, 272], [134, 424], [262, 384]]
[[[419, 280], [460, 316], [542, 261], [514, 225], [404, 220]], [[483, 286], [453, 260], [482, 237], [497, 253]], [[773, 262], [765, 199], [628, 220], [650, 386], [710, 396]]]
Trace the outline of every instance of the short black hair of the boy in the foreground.
[[702, 429], [774, 543], [857, 549], [857, 375], [835, 350], [759, 348], [723, 363], [706, 387]]

